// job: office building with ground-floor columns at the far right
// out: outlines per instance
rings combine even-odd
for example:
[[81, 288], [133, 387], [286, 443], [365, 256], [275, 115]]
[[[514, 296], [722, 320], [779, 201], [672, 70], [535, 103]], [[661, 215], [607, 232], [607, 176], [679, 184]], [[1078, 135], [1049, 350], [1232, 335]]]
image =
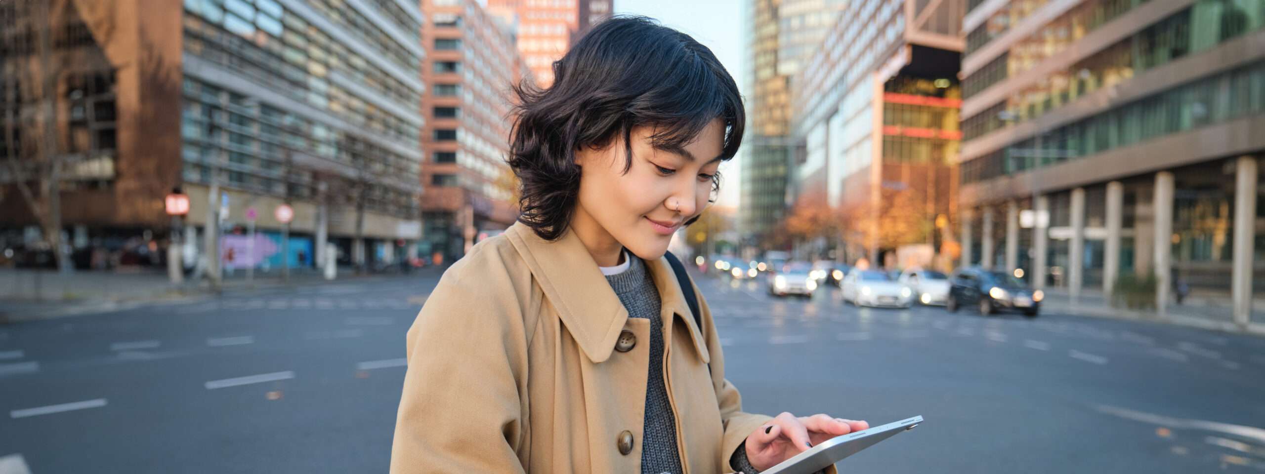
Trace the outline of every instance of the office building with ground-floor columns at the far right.
[[[965, 15], [963, 263], [1111, 295], [1155, 277], [1262, 286], [1265, 1], [972, 1]], [[1212, 306], [1209, 306], [1212, 307]], [[1259, 308], [1257, 308], [1259, 311]]]

